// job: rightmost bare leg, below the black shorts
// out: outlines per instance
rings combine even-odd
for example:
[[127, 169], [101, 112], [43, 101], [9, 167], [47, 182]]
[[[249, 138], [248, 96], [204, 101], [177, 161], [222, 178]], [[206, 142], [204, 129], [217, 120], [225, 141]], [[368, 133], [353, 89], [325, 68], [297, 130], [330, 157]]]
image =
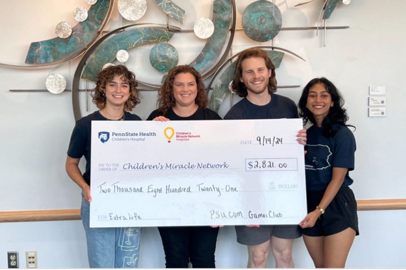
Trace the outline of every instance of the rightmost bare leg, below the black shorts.
[[355, 238], [355, 230], [346, 228], [340, 233], [324, 238], [324, 267], [344, 268]]

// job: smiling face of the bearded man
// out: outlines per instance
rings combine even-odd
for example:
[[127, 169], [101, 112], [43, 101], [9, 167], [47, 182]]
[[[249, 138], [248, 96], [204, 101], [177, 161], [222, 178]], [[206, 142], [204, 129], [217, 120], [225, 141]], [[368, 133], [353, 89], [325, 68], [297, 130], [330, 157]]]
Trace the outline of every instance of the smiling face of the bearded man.
[[[250, 57], [241, 63], [241, 79], [248, 90], [248, 96], [261, 95], [268, 89], [272, 70], [268, 69], [262, 57]], [[266, 94], [268, 92], [266, 91]]]

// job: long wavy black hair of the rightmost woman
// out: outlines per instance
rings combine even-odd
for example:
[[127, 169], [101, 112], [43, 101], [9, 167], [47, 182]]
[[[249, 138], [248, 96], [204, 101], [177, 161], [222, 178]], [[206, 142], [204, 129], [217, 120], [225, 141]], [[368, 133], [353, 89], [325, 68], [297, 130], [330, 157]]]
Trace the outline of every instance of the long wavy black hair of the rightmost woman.
[[311, 80], [301, 93], [299, 104], [297, 106], [299, 107], [299, 115], [303, 119], [303, 124], [306, 125], [310, 121], [312, 124], [316, 125], [316, 119], [314, 118], [313, 113], [306, 107], [309, 91], [316, 84], [322, 84], [324, 86], [326, 91], [331, 95], [331, 101], [333, 102], [333, 106], [330, 107], [327, 116], [321, 124], [323, 135], [331, 137], [338, 131], [336, 129], [337, 127], [333, 124], [341, 124], [355, 129], [354, 126], [347, 125], [348, 115], [347, 110], [343, 107], [343, 96], [334, 84], [324, 77]]

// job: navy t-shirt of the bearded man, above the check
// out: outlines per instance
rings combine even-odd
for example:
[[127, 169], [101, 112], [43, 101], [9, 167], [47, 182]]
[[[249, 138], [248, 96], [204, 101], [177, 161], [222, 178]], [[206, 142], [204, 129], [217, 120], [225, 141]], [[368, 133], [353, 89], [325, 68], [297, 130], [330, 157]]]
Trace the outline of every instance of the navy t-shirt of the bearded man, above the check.
[[235, 103], [224, 116], [224, 120], [241, 119], [281, 119], [299, 118], [293, 100], [277, 94], [270, 94], [270, 102], [266, 105], [255, 105], [247, 97]]

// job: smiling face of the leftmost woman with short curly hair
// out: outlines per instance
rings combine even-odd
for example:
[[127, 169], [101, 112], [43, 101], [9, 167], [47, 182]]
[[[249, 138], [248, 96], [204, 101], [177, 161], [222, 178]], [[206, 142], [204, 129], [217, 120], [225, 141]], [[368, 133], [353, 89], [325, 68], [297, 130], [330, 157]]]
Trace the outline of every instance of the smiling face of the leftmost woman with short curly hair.
[[106, 106], [124, 106], [129, 93], [128, 82], [123, 80], [123, 76], [115, 75], [113, 80], [106, 84]]

